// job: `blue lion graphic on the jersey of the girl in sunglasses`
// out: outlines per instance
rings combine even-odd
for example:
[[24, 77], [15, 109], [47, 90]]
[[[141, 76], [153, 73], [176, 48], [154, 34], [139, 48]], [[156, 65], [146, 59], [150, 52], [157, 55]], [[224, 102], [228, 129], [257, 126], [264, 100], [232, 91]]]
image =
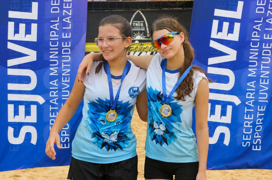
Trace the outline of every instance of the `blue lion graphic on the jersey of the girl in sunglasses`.
[[163, 117], [160, 113], [161, 106], [163, 102], [163, 94], [161, 91], [153, 90], [150, 86], [147, 93], [148, 98], [148, 117], [150, 123], [148, 124], [148, 131], [152, 141], [156, 144], [163, 146], [164, 144], [170, 145], [177, 139], [177, 130], [174, 126], [180, 126], [182, 113], [182, 105], [173, 102], [174, 98], [171, 97], [169, 105], [172, 109], [172, 114], [169, 117]]

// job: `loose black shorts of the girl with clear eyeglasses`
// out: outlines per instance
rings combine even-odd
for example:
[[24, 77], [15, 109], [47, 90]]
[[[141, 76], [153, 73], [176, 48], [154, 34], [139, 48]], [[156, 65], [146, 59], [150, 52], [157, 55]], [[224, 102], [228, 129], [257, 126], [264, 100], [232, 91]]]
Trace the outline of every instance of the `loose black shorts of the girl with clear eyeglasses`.
[[67, 179], [73, 180], [137, 180], [138, 156], [115, 163], [100, 164], [72, 157]]

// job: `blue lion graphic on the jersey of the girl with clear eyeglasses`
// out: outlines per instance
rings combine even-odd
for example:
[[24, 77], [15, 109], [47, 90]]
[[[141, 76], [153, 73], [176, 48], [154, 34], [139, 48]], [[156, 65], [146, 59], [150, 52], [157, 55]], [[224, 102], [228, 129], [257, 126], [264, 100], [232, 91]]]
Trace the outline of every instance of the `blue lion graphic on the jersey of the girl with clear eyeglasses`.
[[118, 101], [116, 105], [117, 118], [113, 122], [106, 120], [106, 114], [111, 109], [110, 100], [96, 99], [96, 102], [88, 103], [87, 126], [93, 131], [91, 138], [98, 148], [106, 148], [107, 151], [123, 150], [129, 144], [127, 131], [130, 127], [130, 115], [133, 106], [129, 102]]

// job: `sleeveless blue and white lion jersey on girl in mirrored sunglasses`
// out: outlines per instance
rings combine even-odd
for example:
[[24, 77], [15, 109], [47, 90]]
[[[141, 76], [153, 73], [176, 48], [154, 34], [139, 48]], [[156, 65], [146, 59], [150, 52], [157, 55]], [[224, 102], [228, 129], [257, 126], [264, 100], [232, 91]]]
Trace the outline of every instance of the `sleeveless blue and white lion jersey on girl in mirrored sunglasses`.
[[[164, 104], [162, 91], [162, 68], [163, 57], [156, 54], [147, 70], [146, 88], [148, 99], [148, 123], [145, 141], [146, 156], [164, 162], [187, 163], [198, 161], [195, 134], [192, 131], [192, 109], [199, 82], [205, 78], [205, 74], [194, 72], [194, 89], [185, 96], [185, 101], [177, 101], [171, 97], [169, 105], [172, 114], [163, 117], [160, 108]], [[167, 70], [166, 91], [167, 96], [178, 81], [178, 70]], [[207, 79], [208, 81], [208, 79]]]

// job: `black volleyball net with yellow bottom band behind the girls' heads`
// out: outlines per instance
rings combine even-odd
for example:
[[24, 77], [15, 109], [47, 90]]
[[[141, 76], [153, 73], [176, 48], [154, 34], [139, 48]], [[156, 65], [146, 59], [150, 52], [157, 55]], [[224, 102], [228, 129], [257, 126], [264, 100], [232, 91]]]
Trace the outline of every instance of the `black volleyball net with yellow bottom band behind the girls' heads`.
[[132, 45], [130, 55], [153, 55], [156, 53], [151, 45], [150, 27], [161, 15], [171, 15], [190, 32], [193, 0], [134, 0], [134, 1], [88, 1], [87, 34], [85, 52], [100, 52], [94, 39], [98, 36], [101, 19], [109, 15], [121, 15], [132, 26]]

